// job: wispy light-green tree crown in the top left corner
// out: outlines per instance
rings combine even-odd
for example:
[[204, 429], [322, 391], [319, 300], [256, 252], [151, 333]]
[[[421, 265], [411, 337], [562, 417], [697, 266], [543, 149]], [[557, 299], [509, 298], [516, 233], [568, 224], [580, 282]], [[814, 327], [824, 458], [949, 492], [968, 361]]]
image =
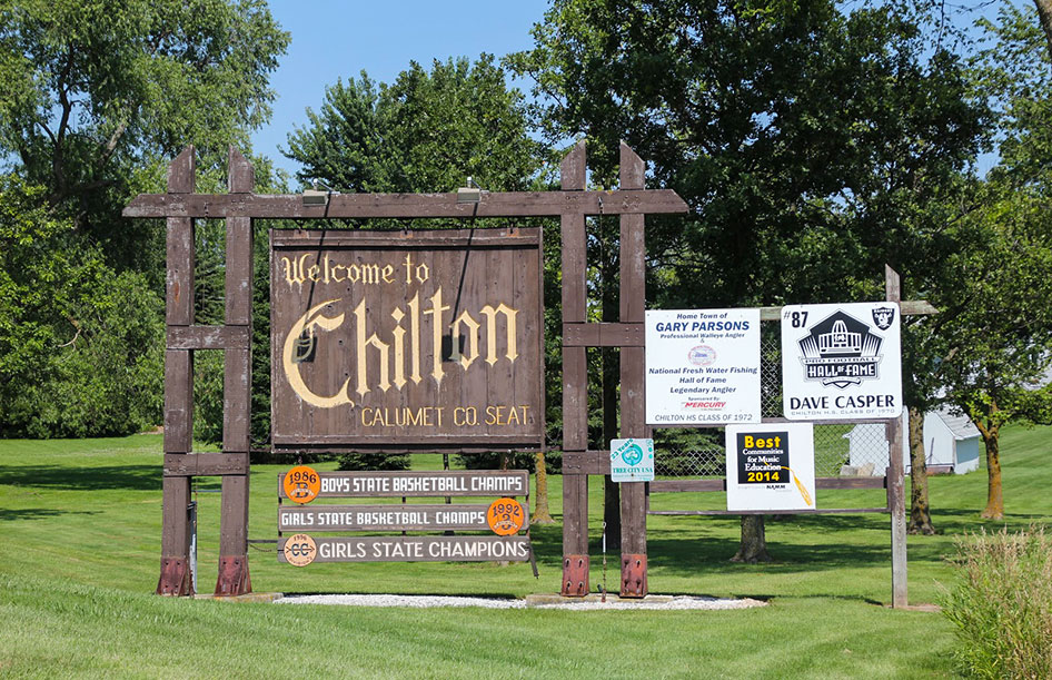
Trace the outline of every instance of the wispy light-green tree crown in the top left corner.
[[259, 0], [2, 2], [0, 150], [78, 228], [118, 242], [143, 166], [248, 146], [288, 40]]

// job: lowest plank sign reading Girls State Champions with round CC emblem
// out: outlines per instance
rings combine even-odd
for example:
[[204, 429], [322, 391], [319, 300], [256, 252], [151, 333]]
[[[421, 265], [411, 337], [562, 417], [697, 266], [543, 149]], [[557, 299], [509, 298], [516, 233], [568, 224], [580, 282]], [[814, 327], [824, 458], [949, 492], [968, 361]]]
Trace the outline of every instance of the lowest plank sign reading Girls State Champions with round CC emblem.
[[[297, 541], [292, 541], [292, 539]], [[306, 539], [306, 540], [305, 540]], [[309, 540], [309, 544], [308, 541]], [[295, 543], [290, 549], [289, 543]], [[289, 552], [296, 552], [292, 562]], [[308, 556], [312, 555], [309, 558]], [[311, 562], [524, 562], [529, 536], [297, 536], [278, 540], [278, 561]]]

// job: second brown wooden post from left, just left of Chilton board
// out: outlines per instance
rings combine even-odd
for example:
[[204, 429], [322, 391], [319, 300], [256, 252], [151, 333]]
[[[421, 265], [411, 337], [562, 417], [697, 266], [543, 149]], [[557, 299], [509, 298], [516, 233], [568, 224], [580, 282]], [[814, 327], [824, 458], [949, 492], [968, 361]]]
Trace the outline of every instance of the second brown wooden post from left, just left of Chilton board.
[[[231, 194], [250, 194], [255, 187], [251, 164], [232, 146], [227, 165]], [[245, 333], [244, 347], [224, 351], [222, 452], [248, 459], [252, 385], [252, 220], [227, 218], [226, 326]], [[248, 571], [248, 466], [245, 474], [222, 477], [219, 524], [217, 595], [252, 591]]]

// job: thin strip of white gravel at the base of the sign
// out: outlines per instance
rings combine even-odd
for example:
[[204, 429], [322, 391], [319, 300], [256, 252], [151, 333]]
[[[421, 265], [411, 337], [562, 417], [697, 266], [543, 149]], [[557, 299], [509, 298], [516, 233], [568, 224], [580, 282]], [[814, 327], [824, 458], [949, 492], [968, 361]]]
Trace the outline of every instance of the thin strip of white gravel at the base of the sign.
[[484, 607], [488, 609], [569, 609], [597, 611], [614, 609], [685, 610], [685, 609], [748, 609], [765, 607], [766, 602], [743, 598], [723, 600], [678, 595], [667, 602], [625, 601], [612, 598], [607, 602], [554, 602], [528, 604], [525, 600], [499, 598], [460, 598], [449, 595], [286, 595], [278, 604], [343, 604], [345, 607]]

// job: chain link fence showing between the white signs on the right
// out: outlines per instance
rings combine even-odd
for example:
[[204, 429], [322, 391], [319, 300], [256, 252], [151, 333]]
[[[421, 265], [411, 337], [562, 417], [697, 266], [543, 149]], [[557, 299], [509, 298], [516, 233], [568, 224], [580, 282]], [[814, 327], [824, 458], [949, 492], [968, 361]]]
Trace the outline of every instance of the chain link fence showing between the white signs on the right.
[[[782, 344], [776, 323], [763, 324], [760, 345], [761, 415], [782, 417]], [[723, 427], [655, 428], [658, 476], [724, 477]], [[815, 425], [815, 476], [883, 476], [889, 463], [882, 423]]]

